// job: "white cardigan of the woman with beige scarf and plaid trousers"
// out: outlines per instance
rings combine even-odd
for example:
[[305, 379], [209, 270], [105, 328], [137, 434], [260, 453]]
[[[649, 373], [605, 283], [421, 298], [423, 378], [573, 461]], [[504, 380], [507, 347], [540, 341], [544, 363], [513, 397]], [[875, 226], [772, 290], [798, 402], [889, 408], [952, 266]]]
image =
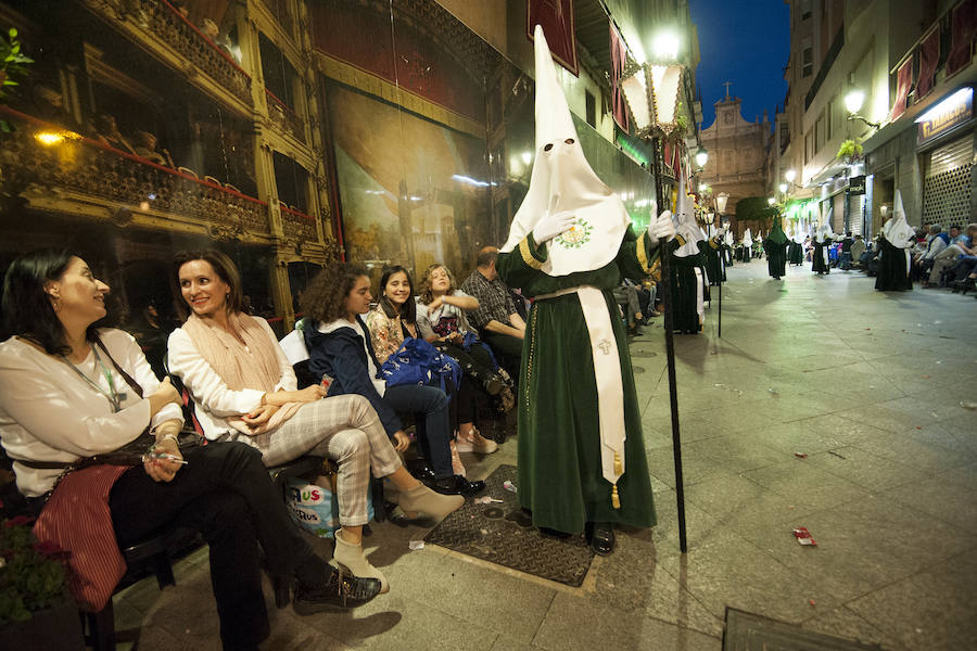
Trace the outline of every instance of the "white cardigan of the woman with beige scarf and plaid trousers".
[[[268, 340], [275, 346], [275, 356], [278, 358], [278, 368], [281, 374], [278, 384], [271, 392], [295, 391], [299, 385], [295, 372], [281, 346], [278, 345], [275, 332], [261, 317], [254, 317], [254, 319], [268, 334]], [[241, 345], [241, 355], [251, 355], [243, 344]], [[196, 420], [203, 427], [204, 435], [211, 441], [220, 438], [224, 434], [237, 432], [227, 424], [226, 418], [251, 413], [262, 404], [262, 396], [265, 395], [263, 391], [256, 388], [232, 391], [229, 388], [214, 367], [196, 350], [190, 335], [182, 328], [177, 328], [169, 334], [167, 359], [169, 372], [182, 380], [183, 385], [190, 390]]]

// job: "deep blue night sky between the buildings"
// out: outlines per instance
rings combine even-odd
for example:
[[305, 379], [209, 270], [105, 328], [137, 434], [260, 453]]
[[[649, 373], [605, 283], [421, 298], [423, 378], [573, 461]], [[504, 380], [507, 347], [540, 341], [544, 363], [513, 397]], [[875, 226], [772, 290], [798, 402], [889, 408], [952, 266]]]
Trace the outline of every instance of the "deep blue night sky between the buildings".
[[784, 0], [689, 0], [699, 31], [701, 61], [696, 84], [702, 93], [702, 128], [715, 119], [712, 104], [729, 94], [743, 99], [743, 117], [773, 123], [784, 103], [784, 67], [790, 52], [790, 8]]

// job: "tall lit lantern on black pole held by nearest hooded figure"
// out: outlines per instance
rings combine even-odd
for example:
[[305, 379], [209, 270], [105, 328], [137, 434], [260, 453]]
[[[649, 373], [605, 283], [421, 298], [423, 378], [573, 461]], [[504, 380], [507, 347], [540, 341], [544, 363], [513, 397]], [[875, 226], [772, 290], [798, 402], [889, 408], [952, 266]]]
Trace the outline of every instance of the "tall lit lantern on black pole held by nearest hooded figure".
[[[667, 205], [669, 196], [662, 184], [661, 149], [662, 141], [670, 140], [676, 145], [682, 142], [678, 130], [678, 98], [683, 88], [682, 76], [685, 66], [676, 61], [678, 39], [674, 35], [660, 34], [654, 42], [654, 61], [648, 63], [629, 62], [621, 77], [621, 90], [634, 116], [636, 133], [652, 141], [652, 166], [655, 190], [659, 212]], [[700, 150], [708, 156], [705, 150]], [[696, 155], [698, 163], [698, 153]], [[705, 166], [705, 161], [703, 164]], [[678, 189], [684, 192], [684, 188]], [[678, 431], [678, 393], [675, 386], [675, 342], [672, 326], [671, 276], [669, 272], [668, 243], [662, 243], [661, 301], [664, 307], [665, 359], [669, 372], [669, 399], [672, 411], [672, 452], [675, 460], [675, 495], [678, 508], [678, 549], [688, 549], [685, 532], [685, 485], [682, 478], [682, 441]]]

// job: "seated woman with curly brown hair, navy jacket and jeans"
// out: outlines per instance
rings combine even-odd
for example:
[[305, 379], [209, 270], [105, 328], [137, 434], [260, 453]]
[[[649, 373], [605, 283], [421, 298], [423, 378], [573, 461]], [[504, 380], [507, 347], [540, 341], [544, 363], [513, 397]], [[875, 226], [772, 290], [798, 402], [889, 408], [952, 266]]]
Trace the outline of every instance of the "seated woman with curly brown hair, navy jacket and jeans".
[[[327, 266], [302, 294], [309, 370], [328, 378], [329, 395], [357, 394], [367, 398], [386, 434], [407, 442], [397, 411], [417, 413], [418, 443], [430, 464], [423, 478], [445, 495], [472, 495], [484, 482], [469, 482], [452, 468], [448, 400], [441, 388], [404, 384], [386, 386], [369, 329], [360, 315], [370, 309], [370, 278], [366, 267], [346, 263]], [[421, 426], [422, 425], [422, 426]], [[405, 446], [406, 447], [406, 446]]]

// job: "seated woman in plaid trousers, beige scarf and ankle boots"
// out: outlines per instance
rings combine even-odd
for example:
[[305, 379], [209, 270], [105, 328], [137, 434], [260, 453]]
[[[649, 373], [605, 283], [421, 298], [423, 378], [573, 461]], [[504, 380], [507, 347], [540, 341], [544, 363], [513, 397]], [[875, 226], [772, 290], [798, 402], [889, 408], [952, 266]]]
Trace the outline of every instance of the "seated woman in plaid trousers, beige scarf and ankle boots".
[[[401, 508], [441, 519], [464, 499], [437, 495], [415, 480], [370, 404], [347, 395], [323, 400], [314, 384], [301, 391], [291, 365], [267, 321], [243, 312], [238, 269], [219, 251], [180, 253], [176, 259], [180, 294], [191, 314], [169, 335], [169, 369], [190, 392], [204, 434], [212, 441], [240, 441], [257, 448], [266, 465], [310, 454], [339, 462], [339, 520], [335, 562], [355, 576], [388, 583], [363, 553], [363, 525], [369, 521], [370, 467], [399, 490]], [[405, 435], [395, 437], [406, 449]]]

